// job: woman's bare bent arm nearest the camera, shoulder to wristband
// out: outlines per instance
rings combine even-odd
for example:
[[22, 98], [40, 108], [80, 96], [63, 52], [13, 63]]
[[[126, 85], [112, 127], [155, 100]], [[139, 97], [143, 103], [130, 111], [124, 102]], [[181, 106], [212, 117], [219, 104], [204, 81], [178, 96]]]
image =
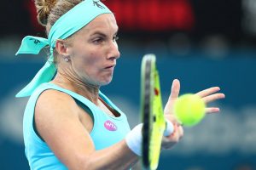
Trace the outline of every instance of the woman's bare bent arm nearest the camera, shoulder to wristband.
[[72, 97], [56, 90], [44, 91], [35, 109], [38, 133], [68, 169], [128, 169], [137, 162], [125, 139], [96, 150], [79, 111]]

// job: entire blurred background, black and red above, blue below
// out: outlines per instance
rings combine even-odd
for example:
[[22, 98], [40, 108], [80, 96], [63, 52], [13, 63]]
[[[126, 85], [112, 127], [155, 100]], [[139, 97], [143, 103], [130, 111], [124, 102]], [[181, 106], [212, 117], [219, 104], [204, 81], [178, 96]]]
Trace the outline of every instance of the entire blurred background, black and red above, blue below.
[[[183, 140], [160, 157], [159, 169], [256, 169], [256, 1], [108, 0], [119, 24], [121, 58], [113, 82], [102, 87], [127, 114], [139, 120], [143, 54], [157, 55], [163, 100], [172, 80], [181, 94], [219, 86], [226, 99], [212, 105], [220, 114], [185, 127]], [[28, 169], [22, 139], [27, 98], [15, 94], [44, 65], [47, 51], [15, 56], [22, 37], [45, 37], [32, 0], [1, 2], [0, 169]], [[254, 75], [254, 76], [253, 76]], [[64, 138], [64, 137], [63, 137]]]

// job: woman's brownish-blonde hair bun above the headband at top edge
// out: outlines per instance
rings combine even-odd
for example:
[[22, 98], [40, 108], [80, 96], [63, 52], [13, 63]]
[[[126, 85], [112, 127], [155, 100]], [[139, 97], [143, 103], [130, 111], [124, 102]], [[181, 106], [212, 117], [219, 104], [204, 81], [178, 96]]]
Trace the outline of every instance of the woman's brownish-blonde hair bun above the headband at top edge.
[[47, 25], [49, 13], [54, 8], [57, 0], [35, 0], [35, 5], [38, 13], [38, 22], [42, 26]]

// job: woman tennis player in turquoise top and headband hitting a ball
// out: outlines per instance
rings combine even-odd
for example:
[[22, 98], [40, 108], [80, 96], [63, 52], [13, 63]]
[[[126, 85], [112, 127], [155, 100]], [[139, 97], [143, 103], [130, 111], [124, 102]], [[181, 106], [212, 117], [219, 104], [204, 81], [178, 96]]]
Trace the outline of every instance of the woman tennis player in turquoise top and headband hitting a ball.
[[[142, 125], [130, 131], [125, 114], [99, 91], [111, 82], [119, 50], [113, 13], [94, 0], [36, 0], [38, 21], [48, 39], [25, 37], [17, 54], [50, 56], [17, 97], [30, 96], [24, 115], [26, 157], [32, 169], [127, 169], [140, 156]], [[209, 88], [199, 95], [206, 102], [224, 97]], [[172, 116], [179, 93], [173, 81], [166, 120], [174, 125], [163, 147], [183, 136]], [[208, 108], [216, 112], [218, 108]], [[169, 124], [171, 124], [169, 122]]]

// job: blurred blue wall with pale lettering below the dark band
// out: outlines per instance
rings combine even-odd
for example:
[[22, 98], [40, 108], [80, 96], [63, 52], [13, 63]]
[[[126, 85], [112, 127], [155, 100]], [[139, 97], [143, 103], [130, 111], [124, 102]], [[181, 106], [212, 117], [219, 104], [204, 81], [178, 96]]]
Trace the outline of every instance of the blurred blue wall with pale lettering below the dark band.
[[[133, 127], [140, 122], [140, 65], [144, 51], [125, 48], [123, 51], [113, 82], [102, 87], [102, 92], [125, 111]], [[174, 78], [181, 82], [181, 94], [212, 86], [219, 86], [226, 94], [226, 99], [212, 104], [221, 108], [220, 114], [208, 115], [196, 127], [186, 127], [182, 141], [172, 150], [163, 151], [159, 169], [255, 169], [255, 52], [234, 50], [221, 59], [196, 52], [187, 57], [162, 51], [154, 53], [158, 57], [164, 102]], [[0, 58], [0, 169], [28, 169], [22, 139], [22, 116], [27, 99], [15, 99], [15, 94], [32, 79], [44, 61], [28, 56], [15, 60], [3, 60], [1, 55]]]

